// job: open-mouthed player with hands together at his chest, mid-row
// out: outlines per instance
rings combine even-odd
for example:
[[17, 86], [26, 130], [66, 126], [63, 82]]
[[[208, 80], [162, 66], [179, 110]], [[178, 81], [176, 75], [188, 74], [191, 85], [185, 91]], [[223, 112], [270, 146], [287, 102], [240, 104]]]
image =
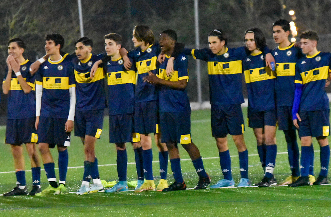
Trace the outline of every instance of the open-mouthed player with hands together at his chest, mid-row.
[[177, 144], [180, 143], [192, 159], [195, 170], [199, 176], [199, 182], [195, 189], [205, 189], [211, 180], [204, 169], [198, 147], [191, 139], [191, 108], [187, 97], [186, 85], [188, 81], [187, 57], [182, 53], [175, 58], [174, 74], [166, 75], [166, 64], [172, 55], [177, 34], [174, 30], [164, 30], [160, 35], [160, 47], [166, 54], [166, 61], [160, 65], [158, 76], [148, 72], [145, 81], [151, 84], [161, 85], [159, 91], [161, 142], [166, 143], [169, 150], [171, 170], [175, 182], [162, 191], [185, 190], [180, 166], [180, 157]]

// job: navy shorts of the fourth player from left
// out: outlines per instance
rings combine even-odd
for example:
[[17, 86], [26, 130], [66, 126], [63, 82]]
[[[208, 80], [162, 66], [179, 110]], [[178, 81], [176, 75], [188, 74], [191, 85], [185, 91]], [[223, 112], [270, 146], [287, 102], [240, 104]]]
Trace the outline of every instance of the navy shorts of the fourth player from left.
[[132, 142], [133, 133], [133, 114], [109, 115], [110, 143]]

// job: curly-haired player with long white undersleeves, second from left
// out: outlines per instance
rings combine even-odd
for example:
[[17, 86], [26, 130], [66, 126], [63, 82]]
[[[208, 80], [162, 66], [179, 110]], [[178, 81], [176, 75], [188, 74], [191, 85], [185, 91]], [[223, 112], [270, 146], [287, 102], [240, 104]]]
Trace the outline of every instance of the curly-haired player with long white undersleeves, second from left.
[[[47, 34], [45, 51], [49, 55], [36, 74], [36, 122], [38, 147], [44, 163], [49, 186], [37, 196], [66, 194], [70, 132], [75, 113], [75, 79], [71, 62], [60, 51], [64, 38], [58, 33]], [[55, 176], [50, 148], [57, 145], [59, 152], [59, 186]]]

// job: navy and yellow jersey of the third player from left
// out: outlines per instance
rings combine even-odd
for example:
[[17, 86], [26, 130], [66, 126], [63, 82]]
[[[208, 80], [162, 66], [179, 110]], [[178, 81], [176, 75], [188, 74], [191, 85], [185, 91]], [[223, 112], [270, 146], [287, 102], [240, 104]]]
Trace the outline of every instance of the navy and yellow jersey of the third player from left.
[[98, 68], [93, 79], [90, 71], [93, 64], [101, 60], [105, 54], [91, 54], [86, 61], [80, 61], [76, 55], [67, 55], [66, 60], [71, 61], [76, 80], [76, 109], [95, 110], [106, 108], [106, 97], [104, 90], [104, 73]]

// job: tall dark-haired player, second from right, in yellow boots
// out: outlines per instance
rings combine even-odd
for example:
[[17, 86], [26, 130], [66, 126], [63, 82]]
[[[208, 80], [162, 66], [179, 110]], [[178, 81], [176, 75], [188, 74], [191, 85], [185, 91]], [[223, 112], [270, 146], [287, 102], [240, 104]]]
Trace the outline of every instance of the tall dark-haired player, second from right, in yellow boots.
[[[288, 159], [291, 176], [287, 177], [282, 185], [295, 182], [300, 176], [299, 148], [297, 143], [296, 127], [293, 125], [292, 105], [295, 91], [295, 64], [303, 57], [301, 49], [288, 40], [290, 34], [290, 22], [277, 20], [272, 25], [273, 38], [278, 47], [272, 50], [276, 61], [276, 105], [278, 129], [283, 130], [287, 143]], [[265, 148], [265, 145], [263, 148]], [[309, 166], [309, 179], [311, 184], [315, 181], [313, 173], [314, 150], [310, 146], [311, 162]]]

